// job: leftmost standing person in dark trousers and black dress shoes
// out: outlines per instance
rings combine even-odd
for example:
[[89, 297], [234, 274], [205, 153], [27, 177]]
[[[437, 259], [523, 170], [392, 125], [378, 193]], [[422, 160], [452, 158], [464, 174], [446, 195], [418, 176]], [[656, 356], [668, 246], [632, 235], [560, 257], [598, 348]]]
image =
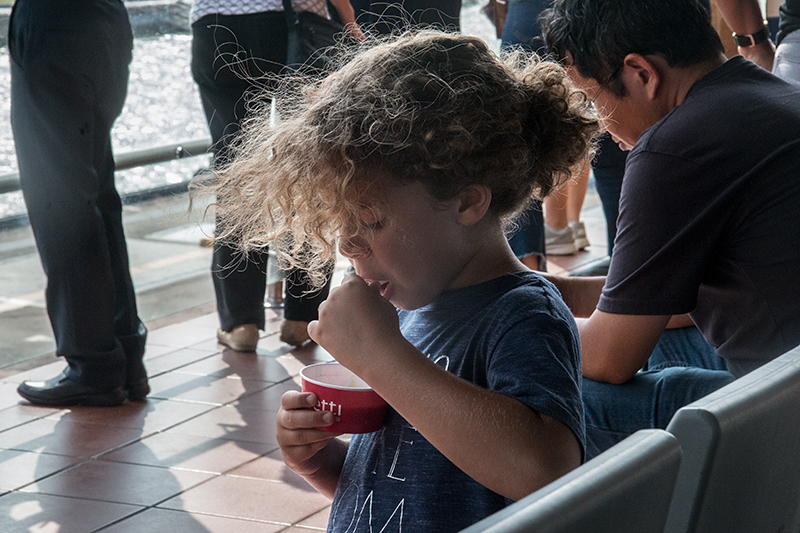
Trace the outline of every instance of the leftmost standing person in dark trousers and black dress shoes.
[[17, 0], [9, 22], [11, 125], [22, 193], [47, 275], [47, 312], [67, 368], [19, 386], [38, 405], [144, 400], [139, 319], [111, 127], [133, 36], [121, 0]]

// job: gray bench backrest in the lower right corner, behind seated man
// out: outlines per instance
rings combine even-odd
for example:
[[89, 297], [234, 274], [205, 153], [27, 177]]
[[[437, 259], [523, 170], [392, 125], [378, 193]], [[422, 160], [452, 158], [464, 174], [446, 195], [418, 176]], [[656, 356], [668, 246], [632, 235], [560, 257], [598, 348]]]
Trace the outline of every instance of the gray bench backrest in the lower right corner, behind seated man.
[[800, 347], [683, 407], [666, 533], [800, 531]]

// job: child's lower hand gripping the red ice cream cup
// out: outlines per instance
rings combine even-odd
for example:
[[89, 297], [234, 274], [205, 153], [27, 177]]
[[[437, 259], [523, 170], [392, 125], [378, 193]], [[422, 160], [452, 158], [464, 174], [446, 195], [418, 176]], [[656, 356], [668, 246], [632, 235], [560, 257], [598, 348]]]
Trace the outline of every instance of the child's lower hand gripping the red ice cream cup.
[[339, 433], [315, 429], [333, 423], [333, 413], [312, 409], [316, 403], [313, 393], [289, 391], [281, 397], [281, 408], [275, 420], [275, 436], [283, 462], [304, 477], [315, 476], [324, 469], [324, 454], [320, 451], [339, 436]]

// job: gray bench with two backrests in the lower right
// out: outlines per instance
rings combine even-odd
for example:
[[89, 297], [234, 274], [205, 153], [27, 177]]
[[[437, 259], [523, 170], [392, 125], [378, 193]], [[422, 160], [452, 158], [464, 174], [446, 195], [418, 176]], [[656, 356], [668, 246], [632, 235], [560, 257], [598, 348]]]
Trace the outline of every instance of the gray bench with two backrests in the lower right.
[[462, 533], [800, 532], [800, 346]]

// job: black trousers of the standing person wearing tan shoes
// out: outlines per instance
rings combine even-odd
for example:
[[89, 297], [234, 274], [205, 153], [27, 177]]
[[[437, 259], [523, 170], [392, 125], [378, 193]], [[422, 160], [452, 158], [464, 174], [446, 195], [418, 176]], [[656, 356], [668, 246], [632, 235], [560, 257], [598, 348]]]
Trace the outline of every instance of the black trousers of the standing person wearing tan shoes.
[[[228, 159], [228, 146], [247, 116], [249, 102], [286, 62], [288, 29], [281, 11], [251, 15], [207, 15], [192, 25], [192, 76], [214, 143], [215, 166]], [[265, 326], [264, 294], [267, 254], [242, 257], [228, 246], [214, 245], [212, 277], [220, 326], [230, 331], [242, 324]], [[309, 322], [328, 296], [330, 279], [310, 292], [305, 276], [287, 274], [284, 318]]]

